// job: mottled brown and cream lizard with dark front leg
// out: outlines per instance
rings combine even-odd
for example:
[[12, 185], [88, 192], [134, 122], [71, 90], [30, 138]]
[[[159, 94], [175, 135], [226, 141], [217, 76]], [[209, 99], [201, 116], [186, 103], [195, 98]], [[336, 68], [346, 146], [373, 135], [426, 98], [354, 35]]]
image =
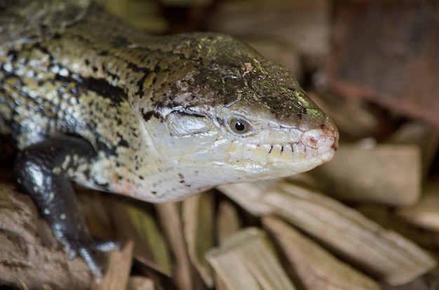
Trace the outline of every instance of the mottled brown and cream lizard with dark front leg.
[[93, 1], [0, 1], [0, 135], [69, 257], [102, 275], [72, 182], [147, 202], [287, 177], [339, 134], [288, 69], [227, 34], [138, 32]]

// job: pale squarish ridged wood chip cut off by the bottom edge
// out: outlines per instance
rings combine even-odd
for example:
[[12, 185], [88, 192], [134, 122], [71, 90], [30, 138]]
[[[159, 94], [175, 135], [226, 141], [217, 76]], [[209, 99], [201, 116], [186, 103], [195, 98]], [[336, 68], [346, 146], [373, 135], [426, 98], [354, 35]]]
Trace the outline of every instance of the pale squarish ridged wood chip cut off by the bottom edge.
[[229, 290], [295, 289], [269, 240], [257, 228], [241, 230], [206, 258]]

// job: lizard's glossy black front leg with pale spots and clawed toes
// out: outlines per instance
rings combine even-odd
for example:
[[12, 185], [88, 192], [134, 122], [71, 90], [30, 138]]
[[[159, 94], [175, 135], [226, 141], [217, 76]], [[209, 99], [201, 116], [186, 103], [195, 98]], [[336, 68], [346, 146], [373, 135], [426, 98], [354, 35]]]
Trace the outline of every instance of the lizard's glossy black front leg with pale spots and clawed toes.
[[79, 213], [72, 188], [74, 174], [87, 174], [95, 150], [80, 137], [53, 137], [32, 144], [18, 153], [15, 175], [18, 183], [36, 202], [55, 237], [64, 244], [69, 258], [78, 253], [95, 277], [102, 275], [94, 250], [109, 251], [114, 242], [93, 240]]

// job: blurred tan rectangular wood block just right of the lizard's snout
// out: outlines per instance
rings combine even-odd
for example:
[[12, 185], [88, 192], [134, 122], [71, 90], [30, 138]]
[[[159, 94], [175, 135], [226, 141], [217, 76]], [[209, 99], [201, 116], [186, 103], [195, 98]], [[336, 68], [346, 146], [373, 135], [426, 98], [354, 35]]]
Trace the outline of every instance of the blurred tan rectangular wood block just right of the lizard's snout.
[[342, 144], [333, 160], [311, 174], [341, 200], [414, 205], [421, 193], [421, 152], [416, 145]]

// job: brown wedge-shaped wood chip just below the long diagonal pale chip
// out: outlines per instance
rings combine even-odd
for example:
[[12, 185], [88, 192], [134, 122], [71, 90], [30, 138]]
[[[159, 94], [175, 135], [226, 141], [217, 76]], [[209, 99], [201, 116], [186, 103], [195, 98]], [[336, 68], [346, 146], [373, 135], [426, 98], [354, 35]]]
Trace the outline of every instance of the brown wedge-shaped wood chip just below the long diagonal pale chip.
[[284, 254], [286, 269], [306, 290], [378, 290], [379, 285], [363, 273], [337, 260], [316, 242], [273, 216], [263, 216], [262, 224]]

